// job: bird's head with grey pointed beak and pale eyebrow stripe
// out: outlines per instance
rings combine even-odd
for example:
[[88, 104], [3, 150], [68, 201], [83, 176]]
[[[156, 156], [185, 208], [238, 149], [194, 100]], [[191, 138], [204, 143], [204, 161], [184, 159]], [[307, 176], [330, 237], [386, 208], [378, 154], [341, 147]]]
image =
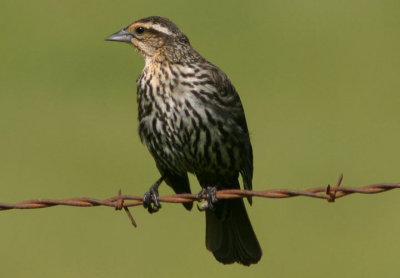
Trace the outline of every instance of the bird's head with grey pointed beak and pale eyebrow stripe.
[[159, 16], [137, 20], [106, 40], [130, 43], [146, 60], [177, 61], [191, 49], [189, 39], [178, 26]]

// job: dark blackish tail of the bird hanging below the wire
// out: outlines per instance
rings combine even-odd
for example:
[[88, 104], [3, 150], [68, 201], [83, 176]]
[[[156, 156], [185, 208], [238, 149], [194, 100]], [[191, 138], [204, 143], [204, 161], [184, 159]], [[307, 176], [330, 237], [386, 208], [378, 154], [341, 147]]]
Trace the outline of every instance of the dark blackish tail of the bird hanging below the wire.
[[242, 199], [219, 200], [206, 210], [206, 246], [223, 264], [257, 263], [262, 251]]

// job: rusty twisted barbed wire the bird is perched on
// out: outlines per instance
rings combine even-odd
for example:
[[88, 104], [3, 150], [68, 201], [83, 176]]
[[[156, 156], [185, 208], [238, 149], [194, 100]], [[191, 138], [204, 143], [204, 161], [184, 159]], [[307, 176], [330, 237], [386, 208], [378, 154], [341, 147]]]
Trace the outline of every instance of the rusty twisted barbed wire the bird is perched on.
[[[343, 174], [339, 176], [334, 186], [316, 187], [304, 190], [292, 189], [273, 189], [273, 190], [245, 190], [245, 189], [223, 189], [216, 192], [217, 199], [233, 199], [244, 197], [262, 197], [262, 198], [292, 198], [292, 197], [311, 197], [325, 199], [328, 202], [334, 202], [338, 198], [345, 197], [350, 194], [376, 194], [400, 188], [400, 183], [379, 183], [366, 185], [361, 187], [343, 187], [340, 186], [343, 181]], [[203, 196], [205, 198], [205, 196]], [[17, 203], [1, 203], [0, 211], [10, 209], [38, 209], [53, 206], [74, 206], [74, 207], [95, 207], [108, 206], [116, 210], [124, 209], [133, 226], [137, 226], [136, 222], [129, 211], [129, 207], [143, 205], [143, 196], [140, 195], [123, 195], [121, 190], [118, 195], [104, 200], [95, 198], [67, 198], [67, 199], [34, 199]], [[199, 200], [198, 194], [174, 194], [168, 196], [160, 196], [160, 202], [164, 203], [188, 203]]]

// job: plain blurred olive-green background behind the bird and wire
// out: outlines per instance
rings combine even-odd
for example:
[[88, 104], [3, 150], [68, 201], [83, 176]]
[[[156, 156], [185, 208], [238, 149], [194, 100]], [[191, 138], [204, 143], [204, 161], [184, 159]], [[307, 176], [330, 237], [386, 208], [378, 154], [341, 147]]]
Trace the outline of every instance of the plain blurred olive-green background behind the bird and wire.
[[[397, 0], [3, 0], [0, 202], [142, 194], [158, 178], [136, 131], [143, 60], [104, 41], [149, 15], [176, 22], [235, 84], [255, 189], [324, 186], [341, 172], [345, 186], [400, 180]], [[133, 214], [137, 229], [102, 207], [0, 212], [0, 277], [398, 276], [397, 191], [256, 199], [264, 256], [250, 268], [214, 260], [196, 209]]]

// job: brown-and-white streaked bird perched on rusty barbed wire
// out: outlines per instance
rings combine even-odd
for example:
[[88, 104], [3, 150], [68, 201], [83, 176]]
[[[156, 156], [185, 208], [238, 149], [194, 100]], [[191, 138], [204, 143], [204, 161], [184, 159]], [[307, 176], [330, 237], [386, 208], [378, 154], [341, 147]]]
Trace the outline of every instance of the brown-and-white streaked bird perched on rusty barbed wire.
[[[144, 194], [149, 212], [161, 208], [158, 188], [191, 193], [188, 173], [202, 188], [206, 247], [223, 264], [256, 264], [262, 249], [243, 199], [216, 198], [219, 189], [252, 189], [253, 150], [240, 97], [227, 75], [203, 58], [171, 20], [150, 16], [106, 38], [143, 56], [138, 77], [139, 136], [161, 177]], [[248, 198], [252, 203], [251, 197]], [[191, 210], [193, 203], [183, 203]]]

